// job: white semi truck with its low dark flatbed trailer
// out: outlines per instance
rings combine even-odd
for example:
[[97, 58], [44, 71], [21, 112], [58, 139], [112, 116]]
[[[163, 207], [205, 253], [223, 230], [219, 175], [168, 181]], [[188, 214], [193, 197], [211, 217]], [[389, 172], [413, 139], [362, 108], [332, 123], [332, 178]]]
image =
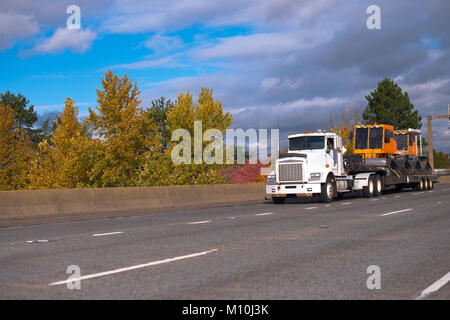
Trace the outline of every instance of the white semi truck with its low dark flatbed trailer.
[[[384, 132], [381, 136], [362, 137], [368, 143], [382, 146], [393, 139]], [[358, 146], [358, 134], [356, 139]], [[437, 178], [431, 175], [427, 161], [417, 158], [366, 159], [358, 154], [344, 157], [346, 149], [341, 137], [331, 132], [291, 134], [288, 141], [287, 153], [277, 159], [275, 170], [267, 176], [266, 193], [277, 204], [284, 203], [286, 198], [305, 196], [318, 196], [322, 202], [331, 202], [351, 191], [367, 198], [393, 188], [412, 187], [422, 191], [433, 188]]]

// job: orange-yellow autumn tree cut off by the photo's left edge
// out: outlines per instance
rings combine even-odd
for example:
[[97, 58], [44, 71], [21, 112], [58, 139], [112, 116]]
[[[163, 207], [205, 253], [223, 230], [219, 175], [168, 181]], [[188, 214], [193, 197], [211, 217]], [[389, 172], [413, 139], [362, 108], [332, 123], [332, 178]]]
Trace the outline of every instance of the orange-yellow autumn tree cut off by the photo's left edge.
[[16, 115], [0, 103], [0, 190], [24, 189], [28, 184], [31, 144]]

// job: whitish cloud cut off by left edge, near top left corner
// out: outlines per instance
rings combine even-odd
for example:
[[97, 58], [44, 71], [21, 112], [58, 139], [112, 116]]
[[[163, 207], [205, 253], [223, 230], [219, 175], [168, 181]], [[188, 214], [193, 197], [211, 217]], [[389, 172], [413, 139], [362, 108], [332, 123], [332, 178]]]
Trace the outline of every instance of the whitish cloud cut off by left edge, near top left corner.
[[39, 25], [32, 15], [0, 11], [0, 50], [10, 47], [18, 38], [39, 32]]

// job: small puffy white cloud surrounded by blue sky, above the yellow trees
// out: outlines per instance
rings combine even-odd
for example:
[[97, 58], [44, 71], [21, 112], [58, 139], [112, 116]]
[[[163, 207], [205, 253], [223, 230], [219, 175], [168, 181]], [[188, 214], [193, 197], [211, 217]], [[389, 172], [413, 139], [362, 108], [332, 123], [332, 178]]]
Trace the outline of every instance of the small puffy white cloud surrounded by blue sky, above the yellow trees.
[[84, 53], [91, 47], [92, 42], [97, 38], [95, 32], [89, 29], [56, 29], [50, 38], [28, 50], [30, 54], [59, 53], [68, 49], [75, 53]]

